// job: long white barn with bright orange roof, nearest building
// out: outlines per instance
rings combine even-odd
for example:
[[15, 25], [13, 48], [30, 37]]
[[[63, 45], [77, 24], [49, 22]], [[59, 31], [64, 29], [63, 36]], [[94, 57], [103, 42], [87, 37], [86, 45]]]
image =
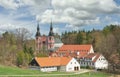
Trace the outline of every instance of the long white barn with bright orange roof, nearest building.
[[48, 71], [79, 71], [80, 64], [71, 57], [35, 57], [29, 64], [31, 69]]

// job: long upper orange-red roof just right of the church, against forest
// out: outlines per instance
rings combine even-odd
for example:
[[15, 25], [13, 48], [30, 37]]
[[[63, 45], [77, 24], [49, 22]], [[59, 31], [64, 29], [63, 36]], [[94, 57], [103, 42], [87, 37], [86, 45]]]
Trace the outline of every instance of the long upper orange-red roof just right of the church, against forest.
[[92, 45], [62, 45], [58, 51], [89, 52]]

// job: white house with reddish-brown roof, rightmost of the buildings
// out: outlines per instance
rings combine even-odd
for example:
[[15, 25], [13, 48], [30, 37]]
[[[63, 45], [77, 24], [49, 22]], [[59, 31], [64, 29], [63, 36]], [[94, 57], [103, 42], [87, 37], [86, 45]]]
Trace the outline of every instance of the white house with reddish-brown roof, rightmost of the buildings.
[[90, 53], [86, 56], [81, 57], [80, 65], [83, 67], [89, 66], [95, 69], [107, 69], [108, 61], [101, 54]]

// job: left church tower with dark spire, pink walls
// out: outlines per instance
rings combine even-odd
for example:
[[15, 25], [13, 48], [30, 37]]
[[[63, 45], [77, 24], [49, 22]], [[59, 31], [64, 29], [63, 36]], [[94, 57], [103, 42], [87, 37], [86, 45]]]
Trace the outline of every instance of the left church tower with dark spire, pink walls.
[[39, 23], [37, 24], [37, 32], [35, 35], [36, 39], [35, 39], [35, 49], [36, 51], [40, 51], [41, 49], [41, 34], [40, 34], [40, 28], [39, 28]]

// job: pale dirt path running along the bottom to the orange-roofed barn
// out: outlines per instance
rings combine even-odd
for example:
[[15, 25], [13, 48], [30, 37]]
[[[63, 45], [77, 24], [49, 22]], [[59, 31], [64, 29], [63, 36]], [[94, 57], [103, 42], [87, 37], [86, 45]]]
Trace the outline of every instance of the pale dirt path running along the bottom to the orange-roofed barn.
[[65, 75], [76, 75], [76, 74], [83, 74], [83, 73], [86, 73], [86, 72], [90, 72], [91, 70], [81, 70], [81, 71], [78, 71], [78, 72], [74, 72], [74, 73], [69, 73], [69, 74], [42, 74], [42, 75], [0, 75], [0, 77], [9, 77], [9, 76], [12, 76], [12, 77], [35, 77], [35, 76], [39, 76], [39, 77], [44, 77], [44, 76], [65, 76]]

